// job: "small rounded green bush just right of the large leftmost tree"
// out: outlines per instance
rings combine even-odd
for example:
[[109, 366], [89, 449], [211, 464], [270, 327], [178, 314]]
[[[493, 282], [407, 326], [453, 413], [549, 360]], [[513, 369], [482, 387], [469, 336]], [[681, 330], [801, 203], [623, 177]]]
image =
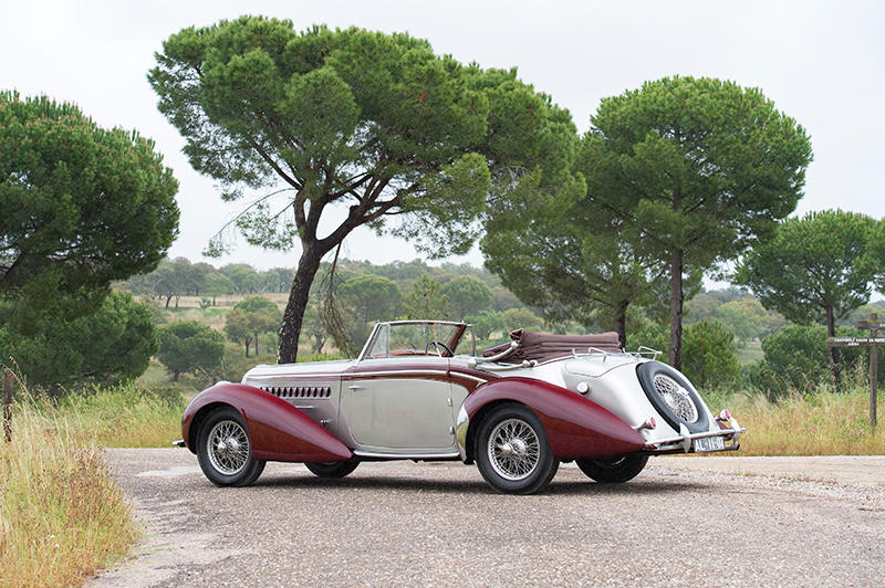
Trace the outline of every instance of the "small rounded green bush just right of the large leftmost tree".
[[157, 358], [173, 374], [215, 369], [225, 355], [225, 337], [197, 321], [178, 321], [159, 328]]

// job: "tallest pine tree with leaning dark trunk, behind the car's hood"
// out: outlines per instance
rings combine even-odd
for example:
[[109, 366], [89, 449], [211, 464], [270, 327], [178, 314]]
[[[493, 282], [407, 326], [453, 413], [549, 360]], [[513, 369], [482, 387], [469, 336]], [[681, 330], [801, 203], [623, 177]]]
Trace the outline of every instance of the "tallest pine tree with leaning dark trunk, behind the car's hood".
[[[290, 21], [242, 17], [179, 31], [156, 61], [148, 78], [159, 109], [223, 198], [283, 185], [235, 224], [264, 248], [300, 241], [280, 334], [287, 361], [321, 259], [355, 228], [412, 239], [435, 258], [466, 253], [487, 198], [539, 177], [558, 182], [569, 164], [561, 146], [575, 140], [569, 113], [516, 70], [465, 66], [403, 33], [295, 32]], [[347, 216], [321, 239], [324, 210], [337, 203]], [[219, 234], [209, 251], [225, 244]]]

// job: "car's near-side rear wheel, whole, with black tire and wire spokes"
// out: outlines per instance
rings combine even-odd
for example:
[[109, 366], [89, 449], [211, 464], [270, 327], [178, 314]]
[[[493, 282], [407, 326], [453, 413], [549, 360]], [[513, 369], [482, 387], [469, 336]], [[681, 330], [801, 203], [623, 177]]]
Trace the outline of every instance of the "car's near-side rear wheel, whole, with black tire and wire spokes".
[[493, 408], [479, 427], [477, 468], [496, 491], [534, 494], [556, 473], [559, 460], [550, 452], [541, 421], [523, 405]]

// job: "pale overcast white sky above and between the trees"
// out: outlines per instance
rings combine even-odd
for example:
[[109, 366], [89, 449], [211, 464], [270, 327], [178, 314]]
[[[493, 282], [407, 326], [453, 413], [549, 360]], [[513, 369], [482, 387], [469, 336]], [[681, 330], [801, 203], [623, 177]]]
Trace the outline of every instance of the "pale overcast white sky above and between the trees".
[[[437, 53], [520, 77], [568, 108], [579, 129], [600, 99], [646, 80], [680, 74], [761, 87], [809, 132], [814, 149], [796, 213], [839, 207], [885, 216], [885, 3], [591, 1], [4, 2], [0, 88], [76, 103], [100, 125], [156, 140], [180, 182], [180, 234], [170, 256], [200, 260], [209, 238], [238, 210], [195, 172], [184, 141], [156, 108], [146, 81], [154, 52], [185, 27], [242, 13], [312, 24], [406, 31]], [[219, 265], [293, 266], [298, 251], [240, 243]], [[345, 255], [374, 263], [419, 256], [406, 242], [357, 230]], [[482, 262], [478, 250], [452, 261]]]

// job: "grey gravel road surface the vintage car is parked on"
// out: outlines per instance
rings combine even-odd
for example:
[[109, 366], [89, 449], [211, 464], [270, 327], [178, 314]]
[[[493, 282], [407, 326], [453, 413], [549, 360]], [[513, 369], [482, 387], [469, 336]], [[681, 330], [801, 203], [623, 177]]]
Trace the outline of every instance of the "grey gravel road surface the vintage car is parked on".
[[269, 463], [254, 486], [217, 489], [187, 450], [106, 459], [145, 538], [90, 587], [885, 586], [876, 468], [842, 484], [653, 458], [606, 486], [564, 464], [544, 494], [503, 496], [458, 463], [364, 463], [335, 481]]

